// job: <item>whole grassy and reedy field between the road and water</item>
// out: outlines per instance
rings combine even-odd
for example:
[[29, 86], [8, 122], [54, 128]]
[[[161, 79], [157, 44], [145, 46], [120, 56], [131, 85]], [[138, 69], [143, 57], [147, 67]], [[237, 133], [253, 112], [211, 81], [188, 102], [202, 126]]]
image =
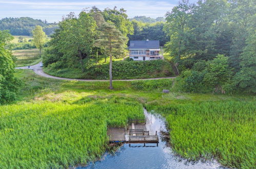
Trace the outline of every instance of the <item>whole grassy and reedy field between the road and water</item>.
[[171, 89], [172, 79], [114, 81], [109, 90], [108, 82], [61, 81], [16, 71], [24, 81], [18, 101], [0, 106], [1, 168], [69, 167], [94, 160], [106, 149], [107, 126], [141, 118], [143, 106], [166, 117], [178, 155], [254, 167], [253, 95], [162, 94], [163, 88]]

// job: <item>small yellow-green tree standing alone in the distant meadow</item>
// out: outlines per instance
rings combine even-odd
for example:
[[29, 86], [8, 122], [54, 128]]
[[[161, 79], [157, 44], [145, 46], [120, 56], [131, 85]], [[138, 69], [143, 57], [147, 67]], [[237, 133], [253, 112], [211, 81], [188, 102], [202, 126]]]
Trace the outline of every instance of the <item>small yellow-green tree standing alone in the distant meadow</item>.
[[41, 50], [43, 49], [46, 43], [46, 34], [43, 31], [43, 28], [39, 25], [35, 26], [35, 29], [32, 31], [33, 33], [33, 43], [35, 44], [36, 48], [40, 51], [41, 57]]

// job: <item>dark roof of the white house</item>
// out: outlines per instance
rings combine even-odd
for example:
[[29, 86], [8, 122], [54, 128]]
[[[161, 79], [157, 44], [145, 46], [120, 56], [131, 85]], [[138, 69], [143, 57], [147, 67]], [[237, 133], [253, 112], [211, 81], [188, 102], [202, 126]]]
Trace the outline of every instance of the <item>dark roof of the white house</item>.
[[159, 49], [159, 40], [131, 40], [130, 49]]

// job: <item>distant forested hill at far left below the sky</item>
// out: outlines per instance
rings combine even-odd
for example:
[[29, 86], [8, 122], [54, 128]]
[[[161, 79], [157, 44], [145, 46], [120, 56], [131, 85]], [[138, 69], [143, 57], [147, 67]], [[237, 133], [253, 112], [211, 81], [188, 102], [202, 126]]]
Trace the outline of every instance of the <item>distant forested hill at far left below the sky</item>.
[[31, 17], [6, 17], [0, 20], [0, 30], [9, 30], [12, 35], [31, 36], [36, 25], [42, 26], [47, 35], [54, 33], [54, 30], [58, 28], [56, 23], [49, 24], [46, 20]]

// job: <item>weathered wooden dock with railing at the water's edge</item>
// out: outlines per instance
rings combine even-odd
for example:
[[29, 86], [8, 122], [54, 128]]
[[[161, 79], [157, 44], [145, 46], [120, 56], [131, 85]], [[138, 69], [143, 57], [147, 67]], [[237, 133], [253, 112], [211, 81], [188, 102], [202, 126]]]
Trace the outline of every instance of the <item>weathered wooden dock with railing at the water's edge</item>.
[[146, 120], [130, 120], [127, 128], [109, 128], [108, 136], [110, 142], [129, 143], [156, 143], [158, 146], [159, 137], [157, 132], [149, 133], [146, 130]]

